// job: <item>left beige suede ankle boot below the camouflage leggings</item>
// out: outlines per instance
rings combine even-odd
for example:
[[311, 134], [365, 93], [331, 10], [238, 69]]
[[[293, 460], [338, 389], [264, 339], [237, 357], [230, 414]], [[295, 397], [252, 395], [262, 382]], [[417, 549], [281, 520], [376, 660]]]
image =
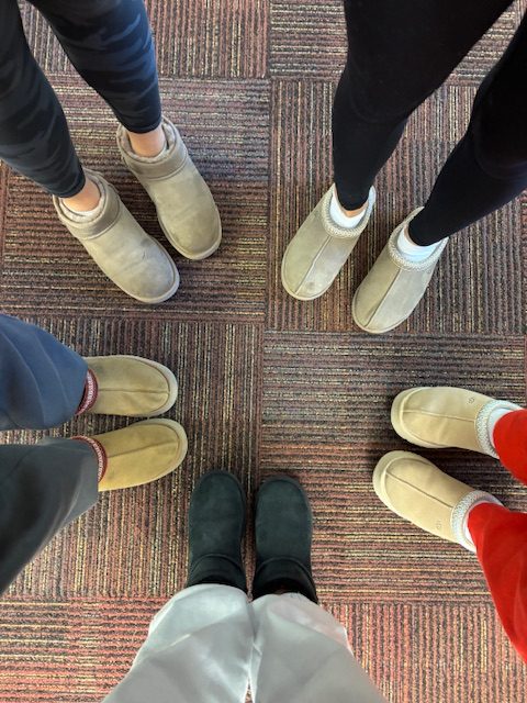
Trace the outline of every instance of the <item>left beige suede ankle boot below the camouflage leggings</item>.
[[113, 186], [100, 174], [85, 171], [99, 187], [101, 202], [92, 216], [83, 216], [72, 213], [54, 197], [60, 222], [125, 293], [144, 303], [171, 298], [178, 290], [179, 274], [168, 252], [146, 234]]

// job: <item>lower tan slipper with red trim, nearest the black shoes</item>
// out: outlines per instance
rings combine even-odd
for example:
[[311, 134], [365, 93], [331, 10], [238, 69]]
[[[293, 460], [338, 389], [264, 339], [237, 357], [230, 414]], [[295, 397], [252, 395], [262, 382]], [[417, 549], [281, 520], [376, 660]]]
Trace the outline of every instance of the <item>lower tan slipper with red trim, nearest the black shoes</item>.
[[113, 491], [156, 481], [173, 471], [187, 455], [187, 434], [173, 420], [144, 420], [88, 442], [99, 461], [99, 490]]

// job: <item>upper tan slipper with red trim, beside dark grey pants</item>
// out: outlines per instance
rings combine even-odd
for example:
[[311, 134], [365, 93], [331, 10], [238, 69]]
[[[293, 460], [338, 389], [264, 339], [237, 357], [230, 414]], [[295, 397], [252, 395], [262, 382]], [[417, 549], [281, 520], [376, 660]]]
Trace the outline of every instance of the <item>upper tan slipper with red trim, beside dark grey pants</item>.
[[90, 356], [85, 360], [90, 371], [87, 413], [154, 417], [176, 402], [178, 382], [162, 364], [121, 355]]

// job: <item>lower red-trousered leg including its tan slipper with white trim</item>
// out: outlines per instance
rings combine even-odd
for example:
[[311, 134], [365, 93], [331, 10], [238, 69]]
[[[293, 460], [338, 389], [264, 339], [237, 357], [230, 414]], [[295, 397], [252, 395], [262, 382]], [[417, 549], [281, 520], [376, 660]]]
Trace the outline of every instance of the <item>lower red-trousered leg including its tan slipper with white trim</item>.
[[527, 655], [527, 515], [444, 473], [410, 451], [390, 451], [373, 471], [379, 499], [417, 527], [478, 554], [506, 633]]

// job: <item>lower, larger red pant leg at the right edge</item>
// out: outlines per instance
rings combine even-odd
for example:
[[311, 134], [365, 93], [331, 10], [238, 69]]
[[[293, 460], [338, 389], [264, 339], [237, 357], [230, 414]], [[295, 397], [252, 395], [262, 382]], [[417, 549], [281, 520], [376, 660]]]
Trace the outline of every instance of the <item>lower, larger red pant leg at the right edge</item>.
[[527, 514], [481, 503], [468, 525], [497, 614], [527, 661]]

